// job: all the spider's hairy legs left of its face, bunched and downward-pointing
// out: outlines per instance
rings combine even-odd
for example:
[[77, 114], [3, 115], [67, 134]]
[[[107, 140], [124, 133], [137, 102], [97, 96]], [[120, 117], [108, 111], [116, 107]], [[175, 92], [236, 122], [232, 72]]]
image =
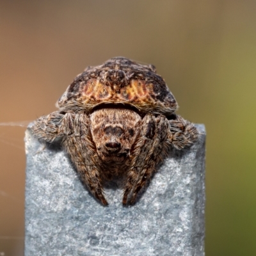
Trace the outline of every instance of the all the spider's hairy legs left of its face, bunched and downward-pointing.
[[38, 118], [31, 129], [35, 136], [45, 141], [52, 142], [57, 137], [63, 137], [62, 146], [76, 166], [84, 184], [102, 204], [107, 205], [97, 168], [99, 160], [90, 138], [89, 125], [90, 120], [85, 114], [61, 114], [56, 111]]

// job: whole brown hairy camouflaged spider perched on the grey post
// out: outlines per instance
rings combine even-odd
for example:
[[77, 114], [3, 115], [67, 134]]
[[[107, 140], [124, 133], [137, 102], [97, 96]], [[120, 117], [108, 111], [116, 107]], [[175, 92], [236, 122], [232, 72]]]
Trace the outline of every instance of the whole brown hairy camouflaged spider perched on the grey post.
[[79, 74], [32, 131], [62, 147], [90, 192], [107, 205], [106, 180], [125, 178], [123, 204], [133, 204], [170, 146], [198, 138], [196, 127], [175, 115], [172, 93], [153, 65], [112, 58]]

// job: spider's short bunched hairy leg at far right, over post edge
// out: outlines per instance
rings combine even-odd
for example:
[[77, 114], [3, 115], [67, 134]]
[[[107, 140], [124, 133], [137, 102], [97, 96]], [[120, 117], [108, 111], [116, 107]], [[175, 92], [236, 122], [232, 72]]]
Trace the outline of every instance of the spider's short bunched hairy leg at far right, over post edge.
[[182, 149], [193, 144], [198, 138], [198, 131], [195, 125], [191, 124], [179, 115], [173, 115], [172, 120], [169, 120], [170, 134], [169, 142], [173, 147]]

